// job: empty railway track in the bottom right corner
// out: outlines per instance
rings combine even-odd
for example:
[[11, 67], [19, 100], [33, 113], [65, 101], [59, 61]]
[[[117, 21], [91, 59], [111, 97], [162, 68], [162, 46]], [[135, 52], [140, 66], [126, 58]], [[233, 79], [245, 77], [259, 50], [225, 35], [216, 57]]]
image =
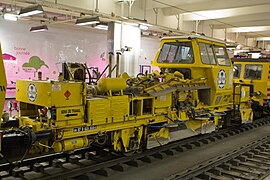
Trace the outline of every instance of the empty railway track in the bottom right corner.
[[270, 135], [174, 174], [177, 179], [265, 179], [270, 174]]

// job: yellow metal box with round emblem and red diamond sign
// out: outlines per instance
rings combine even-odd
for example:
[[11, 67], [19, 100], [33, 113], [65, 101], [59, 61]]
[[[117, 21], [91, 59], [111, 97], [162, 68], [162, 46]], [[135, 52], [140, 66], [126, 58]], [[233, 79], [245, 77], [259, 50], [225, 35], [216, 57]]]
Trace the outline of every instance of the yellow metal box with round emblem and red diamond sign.
[[46, 107], [82, 105], [82, 83], [18, 80], [16, 89], [20, 102]]

